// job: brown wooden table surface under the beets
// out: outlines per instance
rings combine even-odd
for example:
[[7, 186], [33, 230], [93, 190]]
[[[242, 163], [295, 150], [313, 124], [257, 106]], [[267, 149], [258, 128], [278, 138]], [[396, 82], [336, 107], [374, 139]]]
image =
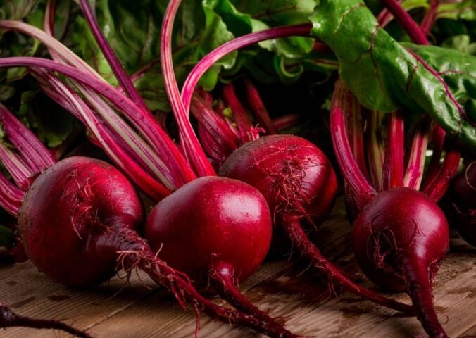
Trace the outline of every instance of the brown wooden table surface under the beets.
[[[372, 287], [353, 262], [349, 230], [343, 203], [338, 201], [330, 220], [315, 234], [315, 242], [354, 280]], [[434, 283], [434, 299], [451, 337], [475, 336], [476, 249], [456, 234], [452, 237], [451, 253]], [[264, 263], [241, 287], [260, 308], [306, 337], [425, 337], [415, 318], [360, 301], [348, 292], [335, 299], [325, 280], [295, 258]], [[405, 294], [395, 297], [408, 302]], [[0, 268], [0, 300], [18, 314], [61, 319], [98, 338], [194, 337], [194, 313], [182, 311], [168, 292], [142, 273], [133, 274], [129, 281], [124, 275], [114, 277], [95, 289], [81, 291], [51, 282], [27, 262]], [[200, 337], [261, 337], [206, 316], [200, 323]], [[68, 334], [8, 328], [0, 331], [0, 337], [57, 338]]]

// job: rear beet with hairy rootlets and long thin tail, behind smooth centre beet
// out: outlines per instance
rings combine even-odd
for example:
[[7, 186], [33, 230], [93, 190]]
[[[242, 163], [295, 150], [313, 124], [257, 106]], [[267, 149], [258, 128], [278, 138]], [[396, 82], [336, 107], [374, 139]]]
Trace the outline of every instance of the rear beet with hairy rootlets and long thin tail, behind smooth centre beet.
[[249, 142], [235, 151], [220, 175], [251, 184], [265, 196], [276, 225], [316, 269], [354, 294], [399, 311], [408, 306], [387, 299], [351, 282], [327, 260], [301, 227], [303, 218], [318, 222], [334, 203], [337, 180], [325, 154], [301, 137], [272, 135]]

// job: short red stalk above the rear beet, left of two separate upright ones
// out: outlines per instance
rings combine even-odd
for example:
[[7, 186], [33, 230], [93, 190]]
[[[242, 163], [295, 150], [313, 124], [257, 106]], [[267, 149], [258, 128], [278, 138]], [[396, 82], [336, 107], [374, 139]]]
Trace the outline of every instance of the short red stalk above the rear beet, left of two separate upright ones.
[[237, 124], [237, 130], [239, 132], [239, 138], [243, 143], [250, 142], [251, 140], [258, 138], [253, 137], [251, 134], [253, 130], [253, 124], [249, 119], [248, 113], [246, 113], [242, 103], [237, 98], [237, 94], [234, 92], [234, 85], [232, 83], [226, 84], [223, 87], [223, 99], [225, 103], [230, 106], [233, 113], [234, 122]]

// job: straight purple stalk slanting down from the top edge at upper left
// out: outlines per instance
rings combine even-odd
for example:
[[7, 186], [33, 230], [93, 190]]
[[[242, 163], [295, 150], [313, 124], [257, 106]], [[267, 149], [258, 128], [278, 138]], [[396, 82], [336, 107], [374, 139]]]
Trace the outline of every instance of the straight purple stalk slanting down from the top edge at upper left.
[[106, 37], [104, 37], [103, 32], [101, 31], [101, 28], [99, 27], [99, 24], [97, 22], [96, 15], [92, 10], [91, 6], [89, 6], [88, 1], [80, 0], [80, 6], [82, 12], [84, 13], [84, 18], [86, 18], [87, 23], [89, 25], [89, 29], [94, 35], [94, 38], [96, 39], [99, 48], [101, 49], [104, 56], [106, 57], [106, 60], [111, 66], [111, 69], [113, 70], [115, 77], [118, 79], [120, 86], [124, 89], [127, 96], [129, 96], [130, 99], [132, 99], [132, 101], [137, 104], [137, 106], [144, 109], [144, 111], [151, 113], [144, 99], [142, 99], [142, 96], [140, 96], [137, 89], [135, 89], [134, 84], [132, 84], [129, 75], [125, 73], [123, 66], [120, 64], [118, 57], [115, 55], [113, 49], [108, 44]]

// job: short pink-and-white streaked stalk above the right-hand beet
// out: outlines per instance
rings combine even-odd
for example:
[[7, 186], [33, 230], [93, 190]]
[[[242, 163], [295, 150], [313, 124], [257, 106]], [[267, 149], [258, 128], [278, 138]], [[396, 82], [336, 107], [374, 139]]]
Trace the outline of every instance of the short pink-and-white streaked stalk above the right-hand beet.
[[413, 132], [413, 141], [410, 150], [410, 158], [406, 168], [404, 185], [412, 189], [420, 189], [423, 170], [425, 170], [425, 156], [430, 134], [430, 123], [425, 119], [419, 123]]

